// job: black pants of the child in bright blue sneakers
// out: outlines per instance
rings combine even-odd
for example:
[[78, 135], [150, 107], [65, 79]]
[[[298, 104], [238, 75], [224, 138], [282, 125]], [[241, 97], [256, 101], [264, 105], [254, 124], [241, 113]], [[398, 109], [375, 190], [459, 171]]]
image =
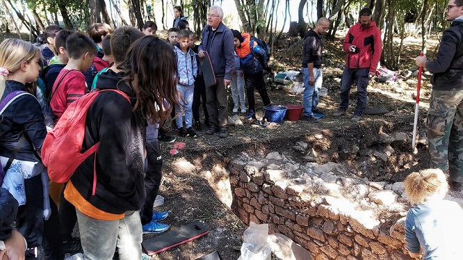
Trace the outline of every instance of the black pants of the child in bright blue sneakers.
[[142, 225], [147, 225], [152, 220], [154, 200], [156, 200], [159, 186], [161, 186], [161, 179], [163, 178], [163, 157], [159, 143], [147, 143], [146, 153], [148, 170], [145, 177], [146, 200], [140, 210]]

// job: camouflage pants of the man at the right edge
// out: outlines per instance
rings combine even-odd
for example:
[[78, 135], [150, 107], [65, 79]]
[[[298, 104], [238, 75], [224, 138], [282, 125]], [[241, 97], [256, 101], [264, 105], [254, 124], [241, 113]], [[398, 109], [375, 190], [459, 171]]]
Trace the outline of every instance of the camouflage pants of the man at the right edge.
[[432, 90], [428, 111], [431, 168], [463, 182], [463, 90]]

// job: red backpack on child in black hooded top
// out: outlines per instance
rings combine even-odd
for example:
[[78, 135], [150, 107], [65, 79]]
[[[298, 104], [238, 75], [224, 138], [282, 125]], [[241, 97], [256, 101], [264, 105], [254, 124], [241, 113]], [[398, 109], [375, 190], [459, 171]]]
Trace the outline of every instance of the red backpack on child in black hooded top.
[[[77, 167], [90, 156], [97, 152], [99, 142], [90, 147], [86, 152], [82, 151], [83, 138], [86, 133], [86, 117], [88, 108], [99, 93], [108, 90], [90, 92], [72, 102], [60, 117], [53, 130], [47, 133], [42, 146], [42, 162], [48, 168], [48, 176], [51, 181], [64, 183], [71, 179]], [[120, 90], [114, 91], [122, 95], [130, 102], [129, 97]], [[95, 163], [96, 163], [95, 156]], [[93, 168], [93, 189], [95, 195], [97, 186], [97, 172]]]

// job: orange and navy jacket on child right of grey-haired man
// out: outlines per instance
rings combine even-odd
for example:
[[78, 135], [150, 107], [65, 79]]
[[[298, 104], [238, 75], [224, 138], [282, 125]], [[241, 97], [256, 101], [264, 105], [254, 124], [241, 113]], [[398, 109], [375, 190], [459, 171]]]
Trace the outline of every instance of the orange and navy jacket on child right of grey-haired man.
[[[236, 54], [240, 57], [241, 68], [245, 74], [257, 74], [262, 72], [263, 67], [267, 67], [267, 53], [256, 41], [251, 46], [251, 35], [241, 33], [243, 42], [238, 48], [235, 48]], [[257, 58], [259, 59], [257, 59]]]

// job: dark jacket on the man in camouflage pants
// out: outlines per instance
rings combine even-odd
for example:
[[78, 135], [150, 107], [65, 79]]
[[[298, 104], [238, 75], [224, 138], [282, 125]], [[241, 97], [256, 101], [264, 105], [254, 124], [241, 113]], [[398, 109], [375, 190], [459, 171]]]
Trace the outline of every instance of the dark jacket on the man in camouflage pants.
[[453, 20], [444, 31], [436, 59], [426, 62], [425, 67], [434, 73], [433, 89], [463, 89], [463, 19]]

